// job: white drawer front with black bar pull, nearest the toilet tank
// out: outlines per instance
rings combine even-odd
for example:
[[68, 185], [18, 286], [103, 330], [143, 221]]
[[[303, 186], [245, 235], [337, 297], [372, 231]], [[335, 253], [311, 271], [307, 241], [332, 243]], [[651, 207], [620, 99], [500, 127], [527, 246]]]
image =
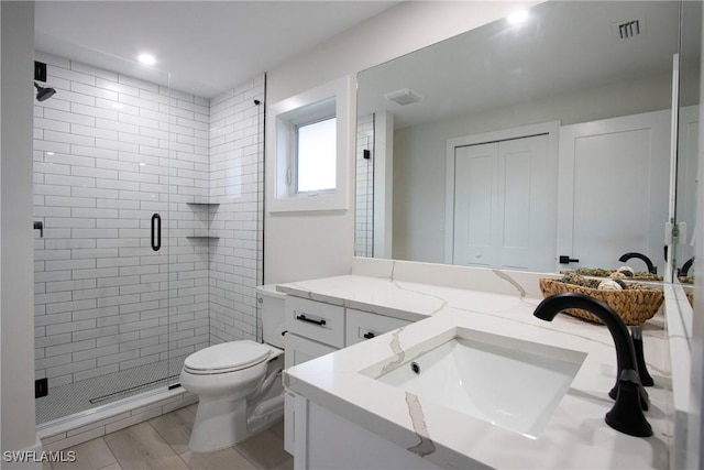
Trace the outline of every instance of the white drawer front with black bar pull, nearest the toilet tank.
[[298, 336], [344, 347], [344, 308], [306, 298], [286, 298], [286, 329]]

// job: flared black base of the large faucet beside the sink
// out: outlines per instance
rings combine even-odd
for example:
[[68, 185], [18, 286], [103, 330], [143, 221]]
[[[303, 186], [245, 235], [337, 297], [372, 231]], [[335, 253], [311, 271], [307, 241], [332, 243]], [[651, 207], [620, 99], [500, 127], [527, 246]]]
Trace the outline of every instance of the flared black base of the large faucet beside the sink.
[[641, 390], [638, 372], [632, 369], [625, 369], [618, 378], [616, 403], [606, 413], [606, 424], [629, 436], [652, 436], [652, 427], [646, 419], [639, 403]]

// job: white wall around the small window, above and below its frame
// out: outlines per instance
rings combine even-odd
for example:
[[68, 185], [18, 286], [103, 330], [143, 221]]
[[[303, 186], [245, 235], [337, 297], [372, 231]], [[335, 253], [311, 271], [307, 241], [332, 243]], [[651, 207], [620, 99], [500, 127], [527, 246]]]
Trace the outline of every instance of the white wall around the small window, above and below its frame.
[[[270, 70], [267, 102], [276, 103], [344, 75], [355, 78], [365, 68], [497, 20], [518, 6], [536, 3], [400, 3]], [[356, 97], [352, 98], [356, 102]], [[355, 109], [351, 119], [356, 121]], [[272, 159], [268, 149], [266, 152], [266, 159]], [[348, 176], [352, 192], [354, 175]], [[349, 200], [354, 200], [352, 195]], [[354, 253], [354, 208], [326, 214], [266, 214], [264, 243], [267, 284], [348, 273]]]

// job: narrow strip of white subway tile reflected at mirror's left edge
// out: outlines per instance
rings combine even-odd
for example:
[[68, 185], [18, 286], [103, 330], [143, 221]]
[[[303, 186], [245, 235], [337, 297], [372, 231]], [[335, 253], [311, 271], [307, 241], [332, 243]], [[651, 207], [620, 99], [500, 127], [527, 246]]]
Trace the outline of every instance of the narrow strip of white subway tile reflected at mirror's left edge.
[[[369, 150], [371, 159], [364, 159]], [[354, 255], [374, 255], [374, 114], [356, 122], [356, 190], [354, 205]]]

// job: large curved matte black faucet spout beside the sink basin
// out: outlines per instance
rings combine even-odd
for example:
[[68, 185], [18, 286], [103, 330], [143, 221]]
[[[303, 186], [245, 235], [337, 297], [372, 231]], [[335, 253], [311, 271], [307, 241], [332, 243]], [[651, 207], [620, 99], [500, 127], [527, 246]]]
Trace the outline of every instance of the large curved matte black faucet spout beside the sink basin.
[[637, 372], [636, 351], [626, 324], [605, 303], [578, 293], [551, 295], [538, 305], [534, 315], [541, 320], [552, 321], [556, 315], [569, 308], [580, 308], [597, 316], [608, 328], [616, 345], [618, 376], [609, 392], [616, 403], [606, 413], [606, 424], [630, 436], [652, 436], [652, 428], [642, 412], [647, 409], [647, 394]]

